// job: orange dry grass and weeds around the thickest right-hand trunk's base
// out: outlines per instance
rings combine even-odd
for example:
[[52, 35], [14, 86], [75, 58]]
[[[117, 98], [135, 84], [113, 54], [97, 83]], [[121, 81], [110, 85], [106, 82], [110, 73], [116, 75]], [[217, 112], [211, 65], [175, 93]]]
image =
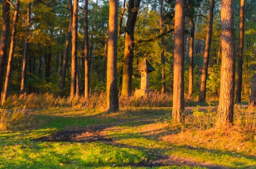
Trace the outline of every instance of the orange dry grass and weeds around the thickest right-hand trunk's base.
[[185, 124], [177, 126], [169, 121], [170, 133], [161, 139], [180, 146], [256, 155], [253, 111], [235, 106], [234, 124], [223, 128], [215, 128], [216, 120], [217, 112], [203, 112], [196, 107], [193, 114], [186, 116]]

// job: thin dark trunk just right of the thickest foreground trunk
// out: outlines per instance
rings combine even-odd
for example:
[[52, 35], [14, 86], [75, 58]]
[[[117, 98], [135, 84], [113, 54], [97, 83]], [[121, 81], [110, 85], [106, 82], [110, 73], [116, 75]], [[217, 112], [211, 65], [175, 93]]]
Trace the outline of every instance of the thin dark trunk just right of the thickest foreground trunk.
[[236, 83], [236, 103], [241, 103], [242, 94], [242, 77], [243, 77], [243, 48], [244, 48], [244, 1], [240, 5], [239, 21], [239, 42], [238, 42], [238, 59], [237, 59], [237, 83]]

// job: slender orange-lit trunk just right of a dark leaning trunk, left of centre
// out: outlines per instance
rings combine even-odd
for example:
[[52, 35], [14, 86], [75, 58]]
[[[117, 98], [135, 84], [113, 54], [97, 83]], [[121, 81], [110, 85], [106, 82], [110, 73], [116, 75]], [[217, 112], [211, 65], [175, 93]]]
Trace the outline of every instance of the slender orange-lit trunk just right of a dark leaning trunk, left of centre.
[[74, 0], [73, 5], [73, 22], [72, 22], [72, 52], [71, 52], [71, 84], [70, 84], [70, 100], [76, 95], [77, 91], [77, 14], [78, 14], [78, 1]]

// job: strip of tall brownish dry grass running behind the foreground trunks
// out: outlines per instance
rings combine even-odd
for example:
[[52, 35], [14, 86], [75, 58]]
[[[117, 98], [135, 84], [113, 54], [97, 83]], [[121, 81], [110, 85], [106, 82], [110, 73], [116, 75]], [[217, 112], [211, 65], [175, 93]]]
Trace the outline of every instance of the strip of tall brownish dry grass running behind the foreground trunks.
[[[196, 98], [187, 98], [185, 100], [186, 106], [195, 106]], [[198, 104], [196, 104], [198, 105]], [[206, 104], [202, 104], [206, 105]], [[169, 93], [162, 94], [159, 91], [151, 91], [145, 97], [138, 98], [134, 94], [129, 97], [119, 97], [119, 107], [129, 109], [131, 107], [171, 107], [172, 95]], [[7, 98], [2, 108], [106, 108], [106, 93], [91, 94], [89, 99], [83, 96], [75, 97], [70, 100], [69, 97], [54, 96], [50, 93], [45, 94], [23, 94], [12, 95]]]

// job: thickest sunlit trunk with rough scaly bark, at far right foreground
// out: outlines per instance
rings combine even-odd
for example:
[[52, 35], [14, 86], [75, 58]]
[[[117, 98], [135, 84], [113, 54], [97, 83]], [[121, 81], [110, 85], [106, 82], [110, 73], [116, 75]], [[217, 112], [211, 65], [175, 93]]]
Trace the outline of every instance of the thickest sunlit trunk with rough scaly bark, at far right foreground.
[[235, 88], [235, 40], [233, 1], [221, 0], [221, 75], [217, 126], [233, 123]]

